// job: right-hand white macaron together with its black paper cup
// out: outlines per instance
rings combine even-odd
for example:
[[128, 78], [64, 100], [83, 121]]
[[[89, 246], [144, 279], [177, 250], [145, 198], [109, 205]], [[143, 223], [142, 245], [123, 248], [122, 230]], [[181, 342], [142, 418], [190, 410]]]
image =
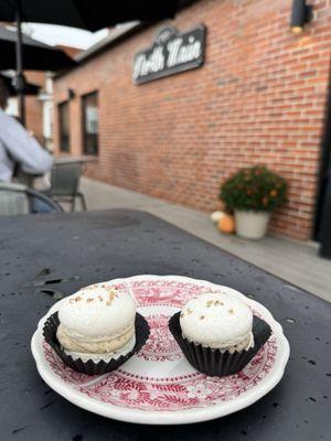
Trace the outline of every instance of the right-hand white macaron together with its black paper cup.
[[244, 301], [226, 292], [190, 300], [169, 327], [189, 363], [209, 376], [242, 370], [271, 334]]

